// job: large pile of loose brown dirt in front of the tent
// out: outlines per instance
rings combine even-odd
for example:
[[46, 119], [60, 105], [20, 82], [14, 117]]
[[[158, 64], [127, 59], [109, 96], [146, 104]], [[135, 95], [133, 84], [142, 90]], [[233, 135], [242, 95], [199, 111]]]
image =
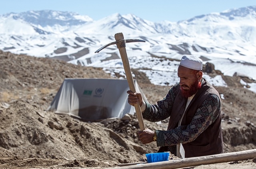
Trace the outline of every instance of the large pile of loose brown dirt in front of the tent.
[[[70, 116], [38, 110], [22, 100], [0, 110], [3, 117], [0, 145], [17, 155], [68, 160], [111, 157], [124, 163], [127, 159], [130, 160], [127, 162], [136, 161], [146, 152], [102, 123], [84, 123]], [[116, 143], [114, 147], [113, 143]]]

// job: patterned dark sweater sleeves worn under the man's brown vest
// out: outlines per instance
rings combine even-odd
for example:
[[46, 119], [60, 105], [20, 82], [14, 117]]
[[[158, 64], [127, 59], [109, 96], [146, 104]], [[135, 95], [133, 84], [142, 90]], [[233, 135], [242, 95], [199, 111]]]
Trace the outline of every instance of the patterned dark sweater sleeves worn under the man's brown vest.
[[[179, 88], [178, 84], [172, 86], [163, 100], [158, 100], [155, 104], [146, 102], [146, 110], [142, 113], [143, 118], [150, 122], [158, 122], [170, 117], [177, 95], [176, 92]], [[196, 110], [189, 124], [181, 124], [181, 126], [176, 126], [176, 128], [167, 131], [156, 130], [157, 146], [168, 146], [168, 151], [176, 155], [176, 146], [173, 145], [194, 141], [208, 126], [214, 123], [219, 115], [219, 97], [216, 94], [209, 94], [200, 108]]]

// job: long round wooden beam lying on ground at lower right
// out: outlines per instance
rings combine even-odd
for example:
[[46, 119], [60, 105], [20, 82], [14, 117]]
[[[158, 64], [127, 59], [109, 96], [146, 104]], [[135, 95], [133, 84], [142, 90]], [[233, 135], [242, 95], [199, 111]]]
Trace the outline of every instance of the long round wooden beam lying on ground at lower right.
[[230, 161], [241, 161], [256, 157], [256, 149], [237, 151], [232, 153], [222, 153], [216, 155], [206, 155], [201, 157], [190, 157], [154, 163], [142, 163], [124, 167], [114, 167], [111, 169], [176, 169], [182, 167], [192, 167], [196, 165], [206, 165], [215, 163], [226, 163]]

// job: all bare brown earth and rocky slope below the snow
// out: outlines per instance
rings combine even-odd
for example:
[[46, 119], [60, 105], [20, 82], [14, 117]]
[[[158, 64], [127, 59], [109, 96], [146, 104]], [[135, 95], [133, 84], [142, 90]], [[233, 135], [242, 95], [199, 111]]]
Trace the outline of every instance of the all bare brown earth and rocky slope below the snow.
[[[155, 86], [143, 73], [132, 70], [149, 102], [162, 99], [171, 86]], [[0, 168], [1, 169], [102, 169], [146, 159], [158, 150], [137, 138], [136, 116], [102, 122], [83, 122], [47, 112], [64, 78], [112, 78], [100, 68], [82, 67], [49, 58], [0, 51]], [[221, 74], [211, 71], [209, 75]], [[239, 83], [246, 77], [225, 77], [226, 87], [216, 87], [222, 100], [224, 151], [256, 149], [254, 92]], [[152, 130], [161, 124], [145, 121]], [[175, 158], [173, 155], [170, 158]], [[256, 168], [256, 159], [200, 165], [191, 168]]]

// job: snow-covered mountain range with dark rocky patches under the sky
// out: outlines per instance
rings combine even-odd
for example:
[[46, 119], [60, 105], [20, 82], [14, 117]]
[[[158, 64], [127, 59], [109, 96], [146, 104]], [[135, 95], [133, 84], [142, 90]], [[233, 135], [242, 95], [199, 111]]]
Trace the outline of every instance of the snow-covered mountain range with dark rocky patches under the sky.
[[239, 73], [256, 79], [256, 6], [159, 23], [134, 14], [112, 14], [94, 21], [73, 12], [10, 13], [0, 16], [0, 49], [122, 74], [115, 45], [94, 53], [115, 41], [118, 32], [126, 39], [146, 41], [128, 43], [126, 51], [130, 66], [146, 73], [154, 84], [174, 84], [178, 60], [191, 54], [213, 63], [224, 75]]

